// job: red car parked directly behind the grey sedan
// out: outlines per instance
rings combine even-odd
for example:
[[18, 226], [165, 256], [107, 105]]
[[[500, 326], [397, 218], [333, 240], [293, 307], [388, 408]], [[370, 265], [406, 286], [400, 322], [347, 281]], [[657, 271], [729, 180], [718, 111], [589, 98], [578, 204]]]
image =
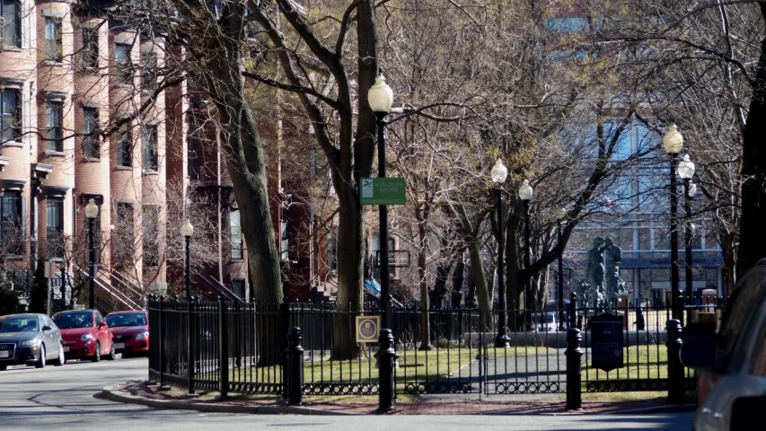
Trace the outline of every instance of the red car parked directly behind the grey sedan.
[[116, 357], [111, 332], [101, 312], [96, 310], [74, 310], [57, 312], [53, 321], [61, 330], [64, 355], [67, 358], [91, 359], [99, 362], [103, 355], [107, 359]]

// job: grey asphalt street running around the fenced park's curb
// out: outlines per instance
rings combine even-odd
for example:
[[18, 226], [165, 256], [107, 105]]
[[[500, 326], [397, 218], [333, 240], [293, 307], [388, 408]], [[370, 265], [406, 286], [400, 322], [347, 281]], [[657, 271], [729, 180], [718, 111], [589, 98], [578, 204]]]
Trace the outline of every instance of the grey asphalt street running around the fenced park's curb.
[[210, 430], [305, 429], [391, 431], [503, 430], [689, 430], [691, 413], [648, 416], [269, 416], [225, 415], [151, 409], [101, 400], [104, 386], [145, 379], [145, 358], [69, 363], [0, 372], [0, 429]]

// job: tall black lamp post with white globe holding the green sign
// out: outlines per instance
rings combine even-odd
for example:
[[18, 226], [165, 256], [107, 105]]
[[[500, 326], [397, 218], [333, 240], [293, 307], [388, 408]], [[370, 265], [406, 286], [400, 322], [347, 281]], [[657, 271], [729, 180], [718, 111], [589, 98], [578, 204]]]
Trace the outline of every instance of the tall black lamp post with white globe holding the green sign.
[[[367, 101], [375, 113], [378, 127], [378, 178], [385, 178], [385, 126], [388, 124], [386, 116], [391, 112], [393, 103], [393, 91], [385, 84], [383, 75], [375, 78], [375, 84], [367, 92]], [[391, 287], [389, 285], [388, 271], [388, 207], [381, 205], [379, 208], [380, 219], [380, 271], [381, 271], [381, 325], [391, 329]]]

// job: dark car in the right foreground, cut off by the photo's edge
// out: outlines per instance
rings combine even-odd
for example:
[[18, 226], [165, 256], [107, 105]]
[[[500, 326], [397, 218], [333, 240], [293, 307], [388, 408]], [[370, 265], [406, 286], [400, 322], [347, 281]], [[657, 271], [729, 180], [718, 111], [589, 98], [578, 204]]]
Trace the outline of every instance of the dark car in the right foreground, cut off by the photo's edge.
[[706, 317], [687, 326], [681, 349], [699, 374], [694, 430], [755, 429], [766, 408], [766, 260], [740, 279], [720, 329]]

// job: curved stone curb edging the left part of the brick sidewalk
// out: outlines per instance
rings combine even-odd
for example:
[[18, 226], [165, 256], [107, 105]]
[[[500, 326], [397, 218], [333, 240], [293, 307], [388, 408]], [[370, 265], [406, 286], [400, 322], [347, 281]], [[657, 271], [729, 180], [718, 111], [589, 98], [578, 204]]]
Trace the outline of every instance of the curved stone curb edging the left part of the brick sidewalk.
[[357, 416], [356, 413], [312, 409], [299, 406], [239, 406], [232, 404], [209, 404], [177, 400], [149, 400], [131, 395], [107, 386], [101, 390], [101, 397], [126, 404], [137, 404], [154, 409], [197, 410], [205, 413], [244, 413], [249, 415], [304, 415], [304, 416]]

